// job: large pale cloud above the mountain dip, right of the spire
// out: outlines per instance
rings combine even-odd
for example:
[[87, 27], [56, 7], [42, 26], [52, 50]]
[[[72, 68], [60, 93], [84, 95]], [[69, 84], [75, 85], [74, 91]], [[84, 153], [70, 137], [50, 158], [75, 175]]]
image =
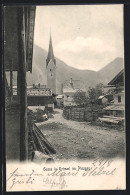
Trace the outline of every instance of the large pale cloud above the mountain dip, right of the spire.
[[116, 57], [119, 53], [117, 43], [103, 37], [78, 36], [73, 40], [61, 41], [55, 46], [55, 55], [68, 65], [79, 69], [99, 70]]

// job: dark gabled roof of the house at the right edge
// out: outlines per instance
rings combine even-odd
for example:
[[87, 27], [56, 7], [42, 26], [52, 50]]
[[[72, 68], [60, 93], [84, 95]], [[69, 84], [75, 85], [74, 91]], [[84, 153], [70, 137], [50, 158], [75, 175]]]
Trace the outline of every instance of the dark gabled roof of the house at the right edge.
[[109, 83], [108, 85], [124, 85], [124, 69], [122, 69]]

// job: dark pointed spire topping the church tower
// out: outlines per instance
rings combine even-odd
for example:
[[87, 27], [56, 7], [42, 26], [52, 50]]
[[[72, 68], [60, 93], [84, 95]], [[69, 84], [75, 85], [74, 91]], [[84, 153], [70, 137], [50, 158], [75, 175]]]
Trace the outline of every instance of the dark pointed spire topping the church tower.
[[50, 62], [50, 60], [52, 60], [54, 62], [54, 64], [56, 65], [56, 60], [55, 60], [54, 53], [53, 53], [51, 33], [50, 33], [48, 55], [47, 55], [47, 59], [46, 59], [46, 67], [48, 66], [48, 63]]

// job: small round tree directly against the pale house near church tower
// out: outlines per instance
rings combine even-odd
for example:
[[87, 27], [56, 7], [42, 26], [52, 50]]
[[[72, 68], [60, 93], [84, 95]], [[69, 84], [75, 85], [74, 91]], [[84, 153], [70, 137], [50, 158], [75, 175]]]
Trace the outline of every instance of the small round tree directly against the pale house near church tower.
[[73, 96], [73, 100], [77, 105], [85, 105], [87, 101], [86, 92], [78, 90]]

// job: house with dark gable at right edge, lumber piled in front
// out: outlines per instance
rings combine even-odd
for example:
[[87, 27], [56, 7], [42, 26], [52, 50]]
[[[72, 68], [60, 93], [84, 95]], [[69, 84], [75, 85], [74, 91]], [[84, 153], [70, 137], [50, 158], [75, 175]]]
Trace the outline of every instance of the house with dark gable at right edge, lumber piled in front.
[[124, 69], [121, 70], [109, 83], [112, 87], [113, 101], [104, 108], [105, 115], [99, 118], [100, 121], [118, 123], [124, 119], [125, 90], [124, 90]]

